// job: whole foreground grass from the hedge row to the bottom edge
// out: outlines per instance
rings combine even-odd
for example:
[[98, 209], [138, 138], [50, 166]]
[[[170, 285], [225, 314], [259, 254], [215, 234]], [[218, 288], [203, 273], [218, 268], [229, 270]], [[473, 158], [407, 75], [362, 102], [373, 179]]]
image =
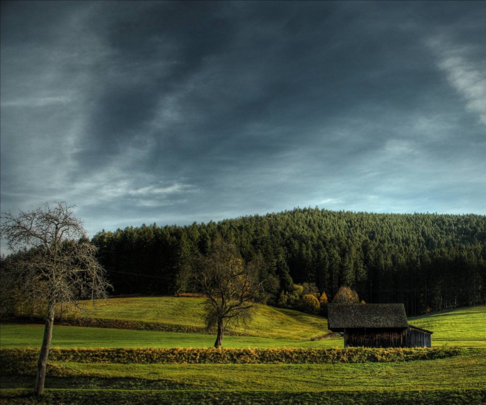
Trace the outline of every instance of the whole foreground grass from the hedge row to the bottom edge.
[[[469, 349], [463, 354], [438, 360], [399, 363], [336, 363], [323, 364], [260, 364], [260, 365], [160, 365], [114, 363], [53, 362], [63, 369], [64, 378], [48, 377], [48, 392], [54, 395], [82, 397], [112, 390], [130, 389], [133, 393], [145, 391], [157, 397], [159, 403], [249, 403], [249, 398], [260, 398], [257, 403], [283, 403], [289, 397], [304, 396], [309, 403], [330, 398], [351, 398], [341, 403], [481, 403], [486, 394], [484, 370], [486, 350]], [[22, 389], [29, 389], [32, 378], [2, 378], [4, 398], [17, 398], [22, 403]], [[76, 390], [72, 389], [73, 385]], [[79, 389], [90, 392], [80, 393]], [[465, 401], [470, 391], [473, 401]], [[165, 396], [157, 396], [163, 393]], [[444, 399], [446, 395], [453, 399]], [[16, 395], [16, 396], [15, 396]], [[417, 395], [425, 401], [417, 401]], [[411, 400], [407, 402], [407, 397]], [[116, 397], [116, 395], [115, 395]], [[199, 398], [196, 399], [196, 398]], [[215, 400], [218, 398], [218, 400]], [[225, 399], [226, 398], [226, 399]], [[319, 399], [320, 398], [320, 399]], [[354, 398], [354, 399], [352, 399]], [[357, 399], [361, 398], [362, 401]], [[382, 402], [372, 399], [382, 398]], [[405, 398], [405, 399], [403, 399]], [[415, 399], [414, 399], [415, 398]], [[457, 401], [458, 398], [462, 398]], [[276, 399], [279, 399], [275, 402]], [[360, 399], [360, 400], [361, 400]], [[401, 401], [398, 401], [398, 399]], [[133, 398], [132, 398], [133, 400]], [[397, 400], [397, 402], [394, 402]], [[403, 402], [405, 400], [405, 402]], [[119, 403], [107, 397], [107, 403]], [[75, 403], [70, 401], [69, 403]], [[251, 401], [254, 402], [254, 401]], [[7, 402], [5, 402], [7, 403]], [[10, 402], [9, 402], [10, 403]], [[29, 403], [29, 402], [26, 402]], [[147, 398], [136, 403], [147, 403]], [[152, 403], [150, 400], [148, 403]], [[156, 403], [155, 401], [153, 403]], [[305, 403], [305, 402], [287, 402]], [[321, 402], [322, 403], [322, 402]], [[328, 403], [328, 402], [325, 402]], [[330, 403], [330, 402], [329, 402]]]

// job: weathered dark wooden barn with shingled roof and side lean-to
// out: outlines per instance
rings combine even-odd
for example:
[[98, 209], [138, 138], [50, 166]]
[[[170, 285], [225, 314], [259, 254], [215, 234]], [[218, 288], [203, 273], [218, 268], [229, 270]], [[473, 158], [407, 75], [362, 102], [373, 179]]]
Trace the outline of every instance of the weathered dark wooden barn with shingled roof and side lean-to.
[[344, 347], [430, 347], [433, 333], [409, 325], [403, 304], [328, 304], [328, 328]]

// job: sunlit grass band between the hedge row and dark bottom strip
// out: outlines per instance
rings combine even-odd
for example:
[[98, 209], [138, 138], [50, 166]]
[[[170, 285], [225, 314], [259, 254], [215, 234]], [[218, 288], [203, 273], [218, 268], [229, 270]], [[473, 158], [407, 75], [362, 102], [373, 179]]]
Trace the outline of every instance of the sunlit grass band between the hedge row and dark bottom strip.
[[[439, 360], [301, 365], [119, 365], [59, 363], [71, 376], [171, 382], [185, 389], [319, 392], [342, 390], [486, 389], [486, 351]], [[350, 378], [352, 376], [352, 378]], [[292, 382], [292, 384], [289, 384]]]

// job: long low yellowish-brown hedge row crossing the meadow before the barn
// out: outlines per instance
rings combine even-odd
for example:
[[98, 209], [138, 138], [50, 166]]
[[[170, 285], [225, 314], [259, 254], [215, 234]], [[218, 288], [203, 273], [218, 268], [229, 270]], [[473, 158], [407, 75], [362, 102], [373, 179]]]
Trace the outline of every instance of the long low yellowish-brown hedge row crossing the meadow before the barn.
[[[49, 360], [106, 363], [362, 363], [430, 360], [451, 357], [463, 350], [454, 347], [372, 349], [207, 349], [207, 348], [113, 348], [113, 349], [51, 349]], [[38, 358], [37, 349], [0, 350], [2, 373], [31, 365]]]

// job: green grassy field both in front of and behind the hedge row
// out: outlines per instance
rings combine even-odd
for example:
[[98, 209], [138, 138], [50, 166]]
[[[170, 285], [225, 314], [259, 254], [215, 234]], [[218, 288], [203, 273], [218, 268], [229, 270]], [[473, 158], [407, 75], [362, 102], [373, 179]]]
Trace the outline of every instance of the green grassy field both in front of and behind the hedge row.
[[[131, 300], [133, 305], [131, 305]], [[179, 302], [179, 303], [178, 303]], [[132, 298], [108, 300], [95, 308], [100, 318], [144, 319], [174, 325], [201, 325], [190, 312], [200, 300], [190, 298]], [[154, 312], [150, 311], [154, 308]], [[172, 315], [161, 308], [174, 308]], [[131, 309], [130, 309], [131, 308]], [[192, 308], [192, 309], [191, 309]], [[198, 306], [200, 308], [200, 306]], [[157, 312], [158, 311], [158, 312]], [[158, 315], [154, 315], [158, 313]], [[184, 313], [184, 312], [183, 312]], [[196, 313], [196, 312], [194, 312]], [[273, 316], [269, 320], [266, 317]], [[180, 322], [180, 323], [177, 323]], [[275, 322], [276, 327], [268, 327]], [[486, 403], [486, 306], [458, 309], [410, 319], [432, 330], [433, 346], [462, 346], [462, 354], [443, 359], [358, 364], [119, 364], [55, 362], [61, 377], [47, 378], [46, 395], [28, 395], [33, 377], [2, 375], [0, 403], [149, 403], [149, 404], [455, 404]], [[300, 332], [295, 332], [292, 328]], [[0, 347], [38, 347], [42, 326], [0, 326]], [[242, 327], [240, 327], [242, 328]], [[255, 328], [255, 329], [251, 329]], [[291, 330], [286, 331], [289, 328]], [[261, 306], [246, 334], [225, 336], [224, 347], [342, 347], [342, 339], [310, 341], [327, 332], [326, 320], [296, 311]], [[277, 332], [278, 331], [278, 332]], [[211, 347], [215, 336], [56, 327], [55, 347]]]

